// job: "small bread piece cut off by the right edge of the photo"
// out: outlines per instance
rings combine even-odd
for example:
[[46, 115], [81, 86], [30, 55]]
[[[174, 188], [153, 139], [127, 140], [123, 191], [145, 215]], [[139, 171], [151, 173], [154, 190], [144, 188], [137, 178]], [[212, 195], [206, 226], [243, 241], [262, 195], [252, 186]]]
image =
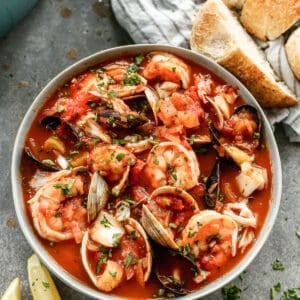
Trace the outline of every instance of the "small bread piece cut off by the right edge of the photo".
[[290, 35], [285, 51], [293, 73], [300, 80], [300, 27]]

